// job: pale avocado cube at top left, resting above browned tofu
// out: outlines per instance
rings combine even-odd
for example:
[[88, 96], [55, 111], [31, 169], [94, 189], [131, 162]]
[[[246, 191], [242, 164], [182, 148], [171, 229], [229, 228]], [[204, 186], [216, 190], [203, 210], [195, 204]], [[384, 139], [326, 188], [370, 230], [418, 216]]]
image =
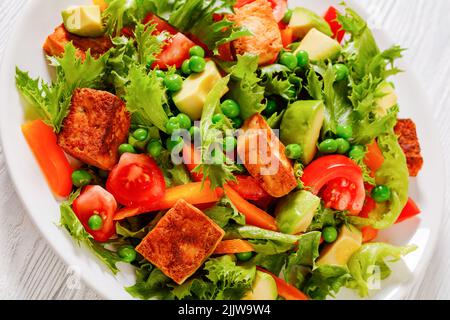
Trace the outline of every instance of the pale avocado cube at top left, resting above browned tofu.
[[61, 13], [64, 26], [70, 33], [81, 37], [99, 37], [104, 34], [99, 6], [73, 6]]

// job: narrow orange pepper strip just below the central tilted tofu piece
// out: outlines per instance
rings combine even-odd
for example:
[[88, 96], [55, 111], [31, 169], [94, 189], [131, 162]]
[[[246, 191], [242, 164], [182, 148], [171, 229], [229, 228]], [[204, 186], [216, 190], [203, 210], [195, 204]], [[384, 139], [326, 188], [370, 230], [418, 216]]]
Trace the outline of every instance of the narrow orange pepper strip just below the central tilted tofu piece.
[[230, 186], [225, 185], [224, 189], [233, 205], [245, 216], [247, 224], [272, 231], [278, 230], [274, 217], [242, 198]]

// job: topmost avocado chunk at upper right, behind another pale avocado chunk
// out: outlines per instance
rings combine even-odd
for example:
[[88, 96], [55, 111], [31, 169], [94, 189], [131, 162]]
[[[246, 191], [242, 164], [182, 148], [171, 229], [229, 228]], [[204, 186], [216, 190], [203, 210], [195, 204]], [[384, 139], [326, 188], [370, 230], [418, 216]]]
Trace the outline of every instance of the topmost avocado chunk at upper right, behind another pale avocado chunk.
[[300, 39], [306, 36], [312, 28], [316, 28], [328, 36], [333, 34], [330, 25], [324, 18], [303, 7], [293, 10], [289, 27], [292, 29], [294, 36]]

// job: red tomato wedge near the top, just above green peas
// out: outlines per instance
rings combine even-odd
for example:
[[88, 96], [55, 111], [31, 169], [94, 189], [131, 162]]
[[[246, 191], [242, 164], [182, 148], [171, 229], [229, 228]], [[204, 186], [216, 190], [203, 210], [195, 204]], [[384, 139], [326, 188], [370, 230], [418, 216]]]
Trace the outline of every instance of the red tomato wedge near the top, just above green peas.
[[153, 67], [159, 67], [161, 70], [167, 70], [171, 66], [181, 68], [183, 62], [189, 59], [189, 50], [194, 46], [195, 43], [188, 37], [177, 33], [167, 41]]

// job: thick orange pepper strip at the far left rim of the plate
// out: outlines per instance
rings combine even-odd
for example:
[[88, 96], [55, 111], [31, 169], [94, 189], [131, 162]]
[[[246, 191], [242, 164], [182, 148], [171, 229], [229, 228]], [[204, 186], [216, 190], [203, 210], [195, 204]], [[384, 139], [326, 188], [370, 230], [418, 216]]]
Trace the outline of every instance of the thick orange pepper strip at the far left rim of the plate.
[[53, 193], [60, 197], [72, 192], [72, 172], [69, 161], [57, 144], [52, 128], [41, 120], [24, 124], [22, 133], [44, 173]]

